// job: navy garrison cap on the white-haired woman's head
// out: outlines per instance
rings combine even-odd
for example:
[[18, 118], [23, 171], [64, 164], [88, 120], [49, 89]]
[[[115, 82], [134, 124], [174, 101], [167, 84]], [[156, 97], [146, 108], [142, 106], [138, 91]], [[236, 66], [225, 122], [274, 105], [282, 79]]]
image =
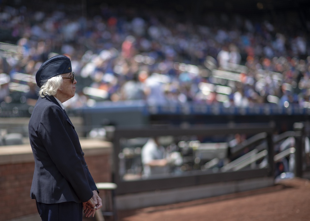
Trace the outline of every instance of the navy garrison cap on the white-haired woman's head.
[[37, 85], [41, 88], [46, 80], [70, 72], [72, 72], [70, 59], [64, 55], [56, 55], [45, 61], [37, 71]]

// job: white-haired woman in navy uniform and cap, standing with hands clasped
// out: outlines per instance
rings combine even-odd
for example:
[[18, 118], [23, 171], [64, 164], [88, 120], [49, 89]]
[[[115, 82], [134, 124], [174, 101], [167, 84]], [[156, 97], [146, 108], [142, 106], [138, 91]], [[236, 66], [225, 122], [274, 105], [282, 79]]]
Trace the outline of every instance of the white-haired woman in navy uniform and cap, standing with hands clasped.
[[35, 168], [30, 196], [43, 221], [82, 221], [102, 207], [98, 189], [63, 102], [74, 96], [71, 61], [54, 56], [38, 69], [39, 99], [29, 121]]

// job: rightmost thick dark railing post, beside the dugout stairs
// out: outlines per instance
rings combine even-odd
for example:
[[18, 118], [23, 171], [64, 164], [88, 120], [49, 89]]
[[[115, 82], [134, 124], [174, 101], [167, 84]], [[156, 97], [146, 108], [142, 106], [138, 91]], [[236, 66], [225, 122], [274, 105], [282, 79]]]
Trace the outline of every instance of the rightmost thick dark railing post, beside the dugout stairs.
[[304, 125], [294, 123], [295, 131], [295, 176], [303, 175]]

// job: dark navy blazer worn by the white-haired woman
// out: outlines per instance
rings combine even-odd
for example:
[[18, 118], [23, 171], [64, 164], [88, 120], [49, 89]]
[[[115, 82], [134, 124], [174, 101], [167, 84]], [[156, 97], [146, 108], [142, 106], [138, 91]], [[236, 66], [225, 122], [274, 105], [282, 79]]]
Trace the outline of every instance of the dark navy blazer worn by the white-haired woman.
[[35, 168], [30, 196], [41, 203], [86, 202], [97, 190], [78, 135], [53, 96], [38, 98], [29, 121]]

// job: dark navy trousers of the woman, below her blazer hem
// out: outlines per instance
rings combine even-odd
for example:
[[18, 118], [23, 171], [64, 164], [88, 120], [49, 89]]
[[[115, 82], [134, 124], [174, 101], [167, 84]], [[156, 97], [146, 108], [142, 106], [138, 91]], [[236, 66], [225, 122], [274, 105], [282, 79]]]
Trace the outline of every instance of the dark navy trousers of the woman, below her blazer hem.
[[46, 204], [37, 202], [42, 221], [82, 221], [83, 204], [77, 202], [61, 202]]

